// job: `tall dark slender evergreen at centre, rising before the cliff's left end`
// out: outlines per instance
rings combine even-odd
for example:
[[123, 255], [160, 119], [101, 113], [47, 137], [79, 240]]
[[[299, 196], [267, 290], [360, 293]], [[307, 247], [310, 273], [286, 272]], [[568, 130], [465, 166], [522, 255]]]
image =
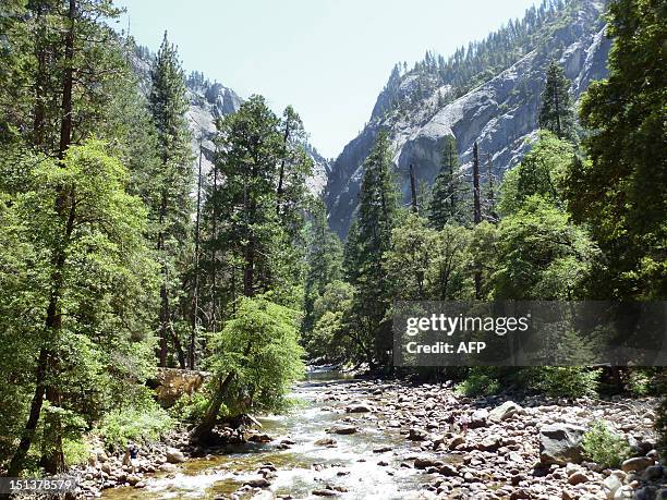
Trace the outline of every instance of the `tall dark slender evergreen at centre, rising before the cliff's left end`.
[[386, 318], [390, 297], [384, 268], [391, 247], [391, 231], [399, 211], [398, 186], [392, 172], [389, 136], [380, 132], [366, 161], [360, 193], [356, 230], [348, 235], [348, 271], [353, 277], [360, 349], [367, 362], [384, 364], [391, 347], [390, 321]]

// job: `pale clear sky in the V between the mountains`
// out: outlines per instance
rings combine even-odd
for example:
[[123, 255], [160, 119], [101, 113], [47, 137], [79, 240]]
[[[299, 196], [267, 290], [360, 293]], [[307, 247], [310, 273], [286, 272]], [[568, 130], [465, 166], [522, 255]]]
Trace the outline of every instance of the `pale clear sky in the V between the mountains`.
[[336, 157], [371, 117], [393, 64], [485, 37], [536, 0], [117, 0], [119, 23], [156, 51], [165, 29], [183, 68], [241, 97], [292, 105]]

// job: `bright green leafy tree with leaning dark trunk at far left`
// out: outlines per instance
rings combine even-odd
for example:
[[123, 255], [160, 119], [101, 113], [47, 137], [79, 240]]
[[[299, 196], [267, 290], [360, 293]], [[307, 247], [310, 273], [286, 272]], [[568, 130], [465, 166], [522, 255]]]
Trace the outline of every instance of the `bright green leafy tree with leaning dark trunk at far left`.
[[[10, 284], [19, 297], [29, 297], [21, 320], [37, 320], [23, 330], [10, 324], [9, 337], [2, 336], [25, 336], [20, 343], [31, 362], [21, 369], [34, 374], [25, 380], [34, 393], [10, 475], [25, 464], [43, 414], [43, 465], [62, 471], [63, 437], [147, 375], [156, 268], [144, 241], [146, 211], [126, 194], [126, 182], [125, 169], [102, 144], [71, 147], [60, 163], [43, 160], [32, 188], [13, 200], [14, 216], [5, 217], [14, 223], [3, 231], [34, 256], [25, 280]], [[2, 378], [16, 377], [16, 369], [3, 365]]]

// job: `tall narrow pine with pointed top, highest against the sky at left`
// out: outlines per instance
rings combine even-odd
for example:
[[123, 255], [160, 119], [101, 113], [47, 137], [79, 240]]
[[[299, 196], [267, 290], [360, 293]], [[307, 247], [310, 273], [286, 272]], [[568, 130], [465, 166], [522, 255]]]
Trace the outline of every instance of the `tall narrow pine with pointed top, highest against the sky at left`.
[[151, 89], [149, 108], [157, 129], [160, 171], [154, 182], [158, 197], [151, 206], [151, 216], [157, 221], [156, 246], [162, 265], [160, 286], [160, 366], [167, 366], [168, 339], [171, 338], [182, 368], [185, 354], [174, 328], [174, 306], [178, 300], [178, 261], [183, 257], [191, 239], [192, 212], [192, 150], [191, 133], [185, 113], [189, 102], [185, 94], [185, 76], [178, 59], [175, 47], [167, 33], [150, 73]]

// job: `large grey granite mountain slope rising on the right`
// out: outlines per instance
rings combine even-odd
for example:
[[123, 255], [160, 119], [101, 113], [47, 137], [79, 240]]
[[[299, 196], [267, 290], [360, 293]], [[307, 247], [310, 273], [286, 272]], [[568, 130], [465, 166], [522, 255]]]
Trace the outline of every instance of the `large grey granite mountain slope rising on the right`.
[[397, 64], [377, 98], [371, 120], [331, 167], [327, 184], [329, 222], [344, 235], [357, 206], [363, 161], [379, 130], [390, 133], [401, 188], [408, 196], [408, 169], [433, 183], [444, 137], [457, 138], [463, 169], [472, 146], [490, 157], [501, 174], [529, 148], [545, 69], [558, 60], [579, 98], [592, 80], [607, 74], [609, 40], [604, 36], [604, 2], [556, 0], [526, 11], [484, 41], [458, 50], [450, 59], [427, 53], [408, 71]]

